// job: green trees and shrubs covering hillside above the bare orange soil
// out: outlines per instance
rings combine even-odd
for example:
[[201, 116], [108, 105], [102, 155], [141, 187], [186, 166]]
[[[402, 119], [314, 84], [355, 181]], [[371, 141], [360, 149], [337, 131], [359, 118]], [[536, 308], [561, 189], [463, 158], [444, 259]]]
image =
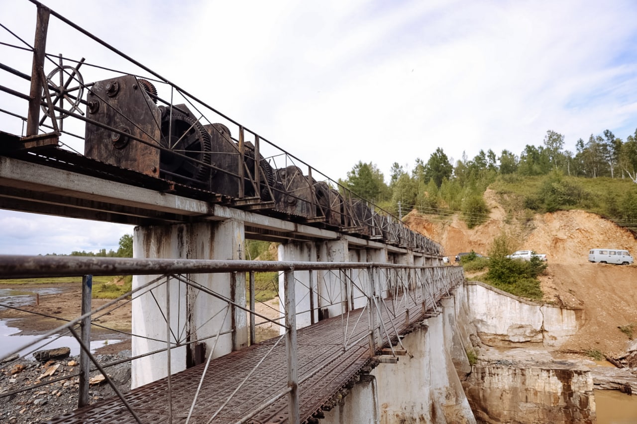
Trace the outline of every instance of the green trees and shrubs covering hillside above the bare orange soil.
[[[491, 149], [451, 164], [442, 148], [411, 170], [394, 162], [389, 183], [372, 162], [359, 161], [338, 182], [396, 216], [413, 209], [429, 215], [462, 214], [469, 228], [484, 222], [490, 187], [506, 197], [512, 215], [584, 209], [637, 229], [637, 129], [626, 141], [606, 130], [564, 150], [564, 136], [547, 131], [543, 143], [516, 155]], [[516, 216], [519, 218], [519, 216]]]

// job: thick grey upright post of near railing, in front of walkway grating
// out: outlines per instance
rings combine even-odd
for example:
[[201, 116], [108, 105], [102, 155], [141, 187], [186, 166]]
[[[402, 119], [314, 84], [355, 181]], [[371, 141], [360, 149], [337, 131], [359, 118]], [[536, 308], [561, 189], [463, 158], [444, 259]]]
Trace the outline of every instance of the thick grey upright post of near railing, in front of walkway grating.
[[296, 351], [296, 295], [294, 293], [294, 268], [283, 274], [285, 291], [285, 351], [287, 353], [288, 422], [299, 424], [299, 376]]

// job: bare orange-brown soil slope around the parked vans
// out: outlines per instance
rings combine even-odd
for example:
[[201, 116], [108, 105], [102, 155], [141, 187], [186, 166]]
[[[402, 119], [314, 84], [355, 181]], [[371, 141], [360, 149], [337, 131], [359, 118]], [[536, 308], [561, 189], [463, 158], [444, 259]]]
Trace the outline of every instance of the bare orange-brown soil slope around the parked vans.
[[497, 196], [487, 190], [489, 220], [469, 230], [459, 216], [440, 218], [408, 215], [412, 229], [442, 244], [452, 257], [462, 251], [487, 253], [494, 237], [506, 234], [518, 249], [546, 253], [547, 275], [541, 277], [544, 300], [583, 310], [583, 325], [564, 351], [600, 350], [617, 357], [629, 337], [618, 327], [634, 324], [637, 338], [637, 265], [591, 264], [590, 248], [622, 248], [637, 254], [637, 239], [626, 229], [584, 211], [536, 215], [527, 222], [505, 220]]

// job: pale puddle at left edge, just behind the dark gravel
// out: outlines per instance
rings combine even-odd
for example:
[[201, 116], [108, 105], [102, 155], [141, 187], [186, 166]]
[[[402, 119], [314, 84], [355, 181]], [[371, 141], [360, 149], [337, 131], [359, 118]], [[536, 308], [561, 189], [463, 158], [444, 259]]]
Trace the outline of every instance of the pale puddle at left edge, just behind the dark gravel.
[[[0, 321], [0, 358], [5, 357], [8, 353], [11, 353], [16, 348], [20, 348], [20, 346], [25, 346], [28, 343], [32, 343], [38, 340], [39, 337], [41, 336], [27, 336], [24, 334], [20, 334], [20, 330], [9, 327], [8, 325], [6, 325], [6, 322]], [[118, 339], [92, 341], [90, 343], [90, 350], [92, 352], [95, 352], [97, 349], [105, 346], [106, 344], [119, 343], [120, 341], [121, 340]], [[20, 355], [25, 355], [26, 353], [34, 350], [55, 349], [64, 347], [71, 348], [71, 356], [80, 355], [80, 344], [77, 343], [75, 337], [73, 336], [50, 336], [47, 337], [47, 339], [39, 342], [37, 346], [29, 346], [21, 350], [19, 353]], [[32, 357], [33, 355], [29, 355], [27, 358]]]

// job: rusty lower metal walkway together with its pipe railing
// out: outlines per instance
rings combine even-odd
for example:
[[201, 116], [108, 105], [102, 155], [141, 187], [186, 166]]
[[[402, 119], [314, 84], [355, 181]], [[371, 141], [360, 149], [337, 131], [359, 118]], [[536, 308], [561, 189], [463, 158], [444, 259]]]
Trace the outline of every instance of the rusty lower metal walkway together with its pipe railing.
[[[279, 272], [285, 281], [285, 293], [279, 299], [284, 309], [278, 319], [255, 313], [254, 290], [250, 306], [246, 307], [197, 284], [199, 273], [247, 272], [254, 281], [255, 272], [264, 271]], [[297, 314], [308, 311], [294, 313], [301, 300], [299, 296], [303, 295], [296, 293], [294, 287], [299, 274], [306, 272], [338, 278], [347, 293], [341, 292], [337, 299], [323, 300], [350, 307], [341, 316], [296, 329]], [[82, 371], [64, 379], [80, 376], [80, 381], [85, 382], [80, 384], [80, 392], [87, 392], [87, 375], [83, 373], [88, 373], [90, 367], [102, 371], [113, 387], [111, 399], [87, 403], [47, 424], [316, 422], [322, 411], [331, 409], [347, 395], [348, 388], [352, 388], [362, 374], [369, 373], [379, 362], [396, 362], [399, 355], [404, 355], [401, 336], [410, 332], [413, 325], [419, 325], [427, 314], [437, 313], [438, 300], [464, 281], [460, 267], [448, 266], [15, 256], [0, 257], [0, 274], [10, 278], [157, 275], [149, 283], [136, 286], [97, 309], [88, 310], [90, 307], [84, 304], [85, 310], [78, 311], [75, 319], [50, 330], [32, 345], [21, 346], [5, 355], [9, 357], [25, 349], [32, 352], [46, 337], [71, 332], [82, 347]], [[98, 362], [90, 353], [87, 341], [80, 336], [79, 328], [90, 327], [91, 320], [120, 307], [118, 300], [130, 297], [134, 302], [145, 293], [166, 292], [167, 285], [180, 285], [184, 290], [196, 288], [199, 296], [224, 299], [225, 309], [215, 314], [227, 314], [233, 308], [245, 309], [251, 316], [251, 334], [255, 325], [259, 325], [255, 320], [261, 324], [273, 323], [282, 334], [221, 357], [215, 357], [213, 348], [202, 364], [121, 393], [108, 377], [108, 367], [113, 364]], [[345, 297], [353, 302], [345, 302]], [[359, 304], [363, 306], [354, 309]], [[170, 302], [157, 304], [157, 307], [166, 317], [166, 348], [162, 351], [168, 353], [166, 366], [170, 370], [169, 352], [182, 348], [187, 341], [180, 328], [175, 331], [168, 325], [171, 313], [175, 313], [170, 309]], [[219, 332], [212, 337], [219, 337]], [[133, 336], [145, 337], [143, 334]], [[43, 381], [41, 385], [59, 379]], [[29, 390], [36, 388], [32, 386]], [[0, 397], [13, 393], [0, 393]]]

